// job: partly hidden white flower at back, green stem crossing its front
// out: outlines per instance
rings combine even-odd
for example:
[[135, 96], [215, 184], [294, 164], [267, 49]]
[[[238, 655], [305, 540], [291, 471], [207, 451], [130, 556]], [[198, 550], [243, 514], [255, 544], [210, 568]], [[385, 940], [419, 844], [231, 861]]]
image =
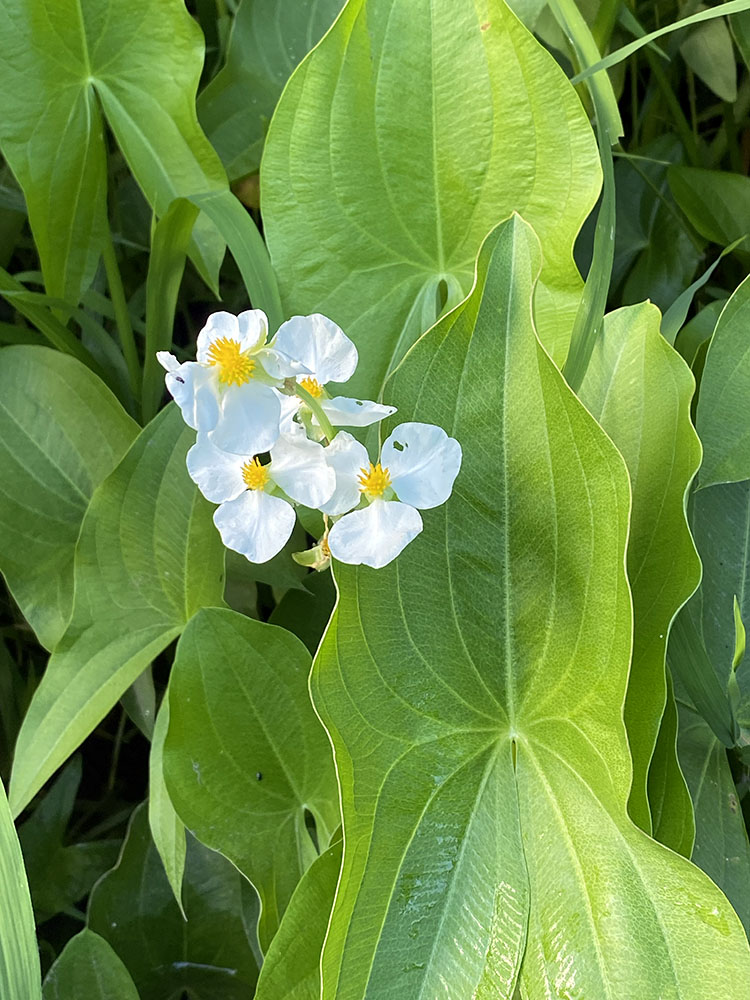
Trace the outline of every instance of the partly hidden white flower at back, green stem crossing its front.
[[[368, 427], [396, 412], [395, 406], [383, 406], [368, 399], [331, 399], [325, 390], [328, 382], [347, 382], [357, 367], [357, 348], [336, 324], [320, 313], [293, 316], [279, 327], [275, 346], [289, 359], [298, 361], [308, 372], [299, 385], [316, 399], [334, 427]], [[281, 401], [282, 426], [290, 429], [294, 415], [304, 406], [298, 396]], [[306, 414], [316, 433], [320, 432], [314, 414]]]

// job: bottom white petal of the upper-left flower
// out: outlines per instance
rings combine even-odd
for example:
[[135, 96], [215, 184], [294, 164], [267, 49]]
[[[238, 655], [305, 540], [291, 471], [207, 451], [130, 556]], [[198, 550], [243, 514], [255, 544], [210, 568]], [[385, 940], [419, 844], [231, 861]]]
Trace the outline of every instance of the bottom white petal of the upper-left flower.
[[229, 386], [211, 443], [235, 455], [257, 455], [275, 444], [280, 418], [279, 398], [270, 386], [255, 381]]

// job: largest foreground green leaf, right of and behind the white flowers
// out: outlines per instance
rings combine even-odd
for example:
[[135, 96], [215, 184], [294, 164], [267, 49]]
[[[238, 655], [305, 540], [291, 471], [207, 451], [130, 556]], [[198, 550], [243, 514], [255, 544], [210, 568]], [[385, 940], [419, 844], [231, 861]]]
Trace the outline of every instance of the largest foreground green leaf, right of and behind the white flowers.
[[518, 218], [390, 387], [463, 447], [395, 564], [336, 566], [313, 695], [344, 862], [323, 996], [736, 1000], [729, 904], [628, 818], [622, 458], [534, 338]]

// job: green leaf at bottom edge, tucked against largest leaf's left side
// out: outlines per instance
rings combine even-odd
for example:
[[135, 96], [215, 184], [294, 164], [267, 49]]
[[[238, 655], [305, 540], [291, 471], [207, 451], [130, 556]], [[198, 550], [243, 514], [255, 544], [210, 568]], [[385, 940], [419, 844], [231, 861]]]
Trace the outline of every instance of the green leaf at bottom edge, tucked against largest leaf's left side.
[[302, 876], [263, 960], [255, 1000], [320, 1000], [320, 953], [341, 870], [341, 850], [339, 838]]

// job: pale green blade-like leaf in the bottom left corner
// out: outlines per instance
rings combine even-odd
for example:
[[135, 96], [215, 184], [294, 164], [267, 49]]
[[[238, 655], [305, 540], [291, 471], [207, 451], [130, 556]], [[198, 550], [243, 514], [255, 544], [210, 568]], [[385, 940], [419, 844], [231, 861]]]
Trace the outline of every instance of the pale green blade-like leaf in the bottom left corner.
[[39, 1000], [42, 978], [36, 946], [34, 913], [23, 867], [21, 846], [0, 781], [0, 996]]

